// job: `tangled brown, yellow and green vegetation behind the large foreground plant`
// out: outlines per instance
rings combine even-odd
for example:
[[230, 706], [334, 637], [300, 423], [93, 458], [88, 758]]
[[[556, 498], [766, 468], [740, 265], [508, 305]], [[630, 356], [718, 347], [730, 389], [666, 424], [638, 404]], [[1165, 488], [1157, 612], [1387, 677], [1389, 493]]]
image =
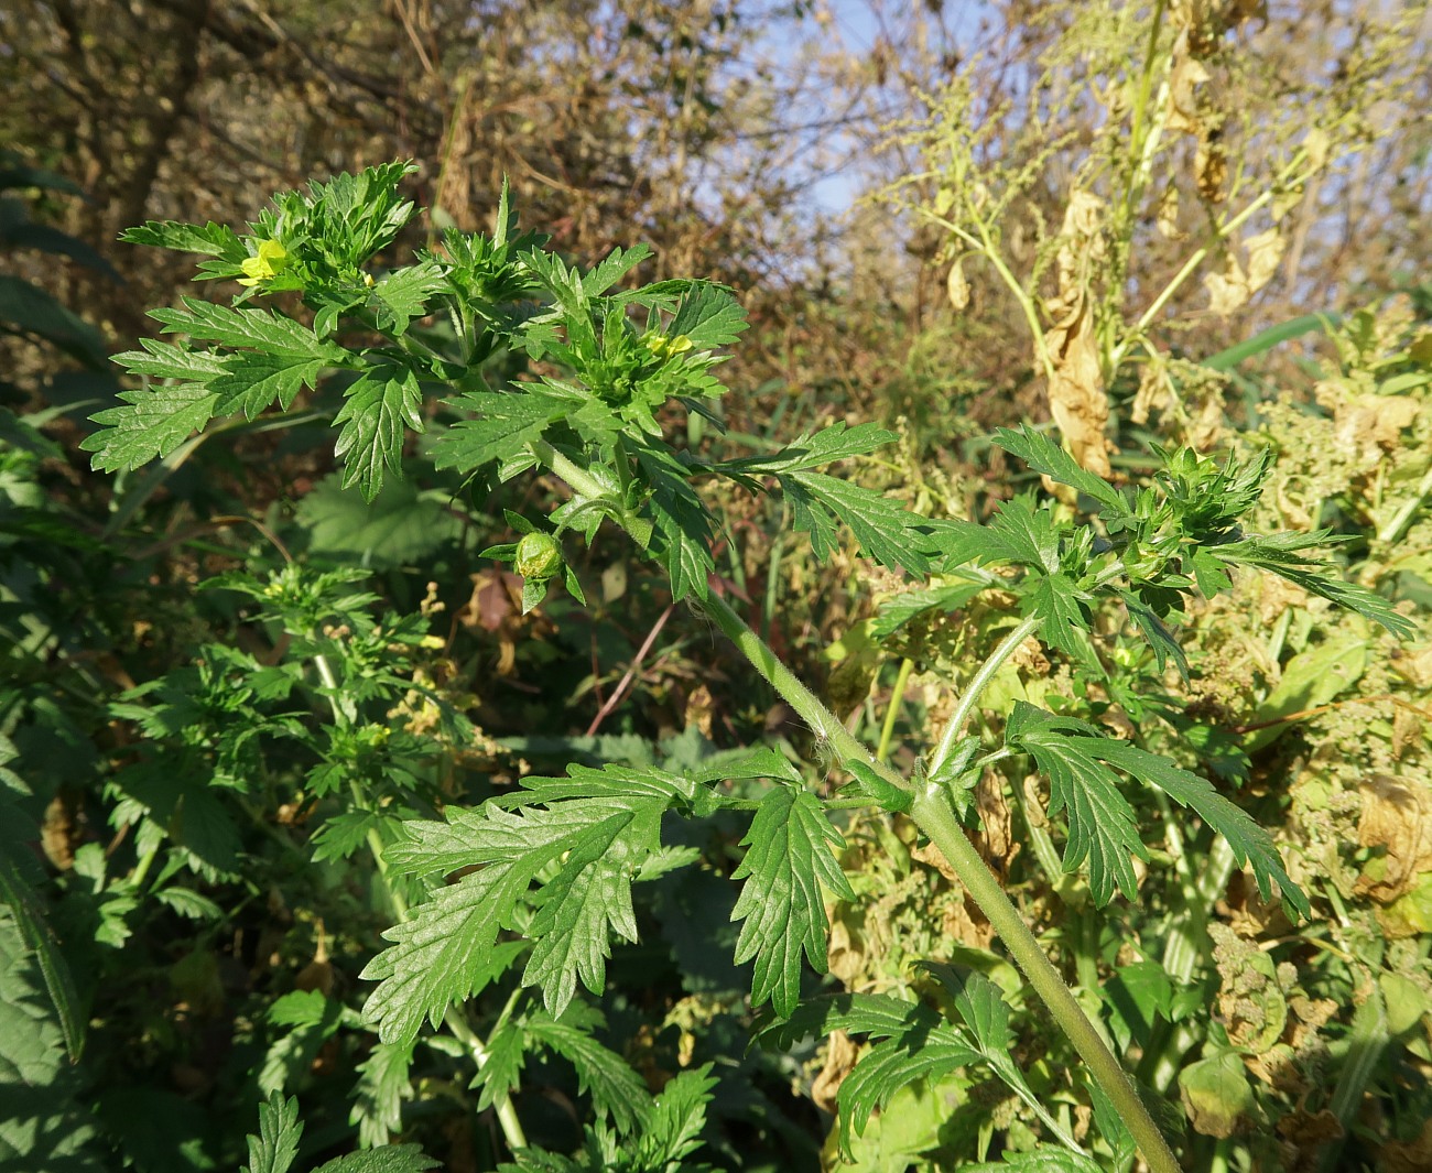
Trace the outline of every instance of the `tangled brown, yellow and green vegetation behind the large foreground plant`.
[[[523, 612], [480, 551], [514, 539], [504, 508], [551, 508], [553, 483], [463, 484], [418, 444], [375, 501], [342, 488], [325, 423], [342, 388], [305, 391], [282, 427], [229, 421], [147, 468], [90, 470], [90, 417], [135, 385], [109, 357], [193, 292], [190, 265], [122, 229], [241, 225], [274, 190], [412, 159], [427, 211], [395, 256], [490, 229], [505, 176], [573, 262], [646, 241], [642, 281], [737, 291], [725, 435], [663, 417], [692, 453], [874, 421], [899, 444], [842, 476], [961, 520], [1040, 487], [994, 427], [1053, 423], [1128, 484], [1158, 445], [1276, 455], [1249, 528], [1342, 534], [1346, 577], [1418, 634], [1252, 576], [1183, 617], [1187, 679], [1110, 612], [1107, 686], [1030, 643], [985, 703], [994, 723], [1063, 706], [1216, 779], [1312, 918], [1264, 904], [1169, 808], [1148, 812], [1140, 902], [1097, 908], [1024, 758], [985, 772], [971, 835], [1173, 1107], [1187, 1167], [1428, 1167], [1422, 6], [17, 0], [0, 46], [0, 1163], [238, 1167], [279, 1091], [312, 1164], [402, 1140], [495, 1167], [501, 1096], [468, 1086], [451, 1038], [398, 1061], [362, 1027], [359, 974], [394, 919], [358, 849], [378, 818], [573, 761], [699, 771], [756, 743], [826, 791], [848, 781], [627, 547], [574, 567], [589, 606]], [[716, 504], [726, 597], [908, 768], [1008, 606], [937, 606], [853, 547], [812, 559], [779, 498]], [[315, 655], [359, 682], [352, 712]], [[868, 1041], [748, 1048], [743, 834], [710, 815], [700, 867], [637, 889], [640, 944], [586, 1011], [630, 1084], [597, 1084], [513, 983], [474, 1000], [484, 1038], [520, 1020], [538, 1040], [510, 1101], [528, 1137], [576, 1149], [594, 1114], [621, 1126], [633, 1088], [710, 1063], [693, 1160], [715, 1167], [1017, 1163], [1041, 1119], [988, 1074], [916, 1081], [855, 1134], [835, 1113]], [[901, 815], [843, 835], [829, 990], [942, 1005], [914, 960], [988, 975], [1035, 1099], [1091, 1134], [1073, 1053], [942, 858]]]

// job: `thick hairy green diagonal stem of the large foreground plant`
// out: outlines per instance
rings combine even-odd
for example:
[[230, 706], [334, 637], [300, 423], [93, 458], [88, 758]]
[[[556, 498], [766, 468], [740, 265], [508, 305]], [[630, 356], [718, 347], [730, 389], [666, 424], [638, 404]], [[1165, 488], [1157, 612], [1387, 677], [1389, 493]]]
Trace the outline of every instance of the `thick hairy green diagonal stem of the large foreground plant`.
[[[581, 496], [593, 500], [604, 496], [601, 484], [586, 468], [563, 455], [551, 444], [538, 440], [531, 445], [531, 451]], [[624, 528], [626, 518], [619, 518], [619, 521]], [[994, 872], [990, 871], [984, 859], [979, 858], [978, 852], [965, 838], [965, 832], [955, 818], [954, 808], [949, 805], [945, 791], [929, 783], [915, 789], [908, 779], [878, 761], [869, 748], [852, 736], [835, 713], [826, 709], [821, 703], [821, 699], [770, 650], [770, 646], [732, 610], [725, 599], [719, 594], [710, 594], [700, 606], [716, 626], [722, 629], [726, 637], [740, 649], [742, 655], [755, 665], [756, 670], [780, 693], [786, 703], [800, 715], [812, 732], [831, 743], [831, 748], [842, 761], [862, 762], [892, 786], [898, 786], [902, 791], [914, 789], [915, 796], [911, 805], [911, 818], [915, 821], [915, 825], [919, 826], [929, 841], [939, 848], [945, 859], [949, 861], [949, 865], [965, 885], [965, 891], [974, 897], [975, 904], [979, 905], [990, 924], [994, 925], [995, 932], [1000, 934], [1005, 948], [1024, 971], [1035, 993], [1050, 1008], [1050, 1014], [1054, 1015], [1055, 1023], [1068, 1036], [1084, 1063], [1088, 1064], [1095, 1081], [1113, 1101], [1120, 1117], [1123, 1117], [1151, 1173], [1181, 1173], [1179, 1162], [1163, 1139], [1163, 1133], [1158, 1131], [1158, 1126], [1148, 1114], [1148, 1109], [1138, 1099], [1138, 1093], [1134, 1090], [1134, 1084], [1124, 1073], [1124, 1068], [1120, 1067], [1118, 1060], [1114, 1058], [1113, 1053], [1104, 1044], [1103, 1037], [1094, 1028], [1094, 1024], [1084, 1014], [1083, 1007], [1074, 1000], [1064, 980], [1050, 962], [1050, 958], [1045, 957], [1038, 938], [1030, 931], [1018, 909], [1004, 894]], [[1024, 626], [1022, 623], [1020, 624], [1020, 627]], [[1015, 634], [1020, 636], [1018, 640], [1014, 640]], [[994, 667], [990, 667], [987, 663], [975, 675], [971, 687], [961, 702], [962, 710], [974, 706], [978, 697], [975, 685], [978, 682], [988, 682], [988, 676], [994, 675], [1000, 663], [1027, 636], [1028, 632], [1021, 634], [1020, 629], [1015, 629], [1005, 639], [1000, 649], [997, 649], [995, 656], [991, 656], [991, 660], [998, 657]], [[982, 683], [979, 687], [982, 687]], [[954, 722], [951, 725], [954, 726]]]

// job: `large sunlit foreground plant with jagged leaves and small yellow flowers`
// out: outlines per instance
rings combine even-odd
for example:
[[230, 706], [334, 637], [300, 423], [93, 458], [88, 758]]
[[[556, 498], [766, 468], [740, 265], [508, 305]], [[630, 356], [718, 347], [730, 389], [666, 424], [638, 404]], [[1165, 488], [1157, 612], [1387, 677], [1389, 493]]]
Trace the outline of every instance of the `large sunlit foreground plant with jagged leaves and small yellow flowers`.
[[[1060, 712], [1053, 697], [1047, 706], [1014, 705], [1002, 736], [991, 743], [974, 732], [987, 689], [1030, 640], [1068, 667], [1075, 690], [1116, 687], [1111, 665], [1127, 645], [1104, 627], [1107, 604], [1121, 609], [1160, 670], [1186, 672], [1171, 624], [1190, 596], [1227, 592], [1239, 570], [1272, 571], [1395, 633], [1411, 632], [1408, 619], [1322, 559], [1335, 536], [1263, 536], [1243, 527], [1270, 473], [1269, 451], [1223, 463], [1187, 448], [1161, 453], [1151, 481], [1124, 490], [1035, 430], [1001, 430], [997, 444], [1071, 488], [1088, 508], [1080, 520], [1068, 506], [1025, 494], [977, 524], [919, 516], [822, 471], [894, 440], [874, 425], [836, 423], [763, 455], [717, 460], [679, 450], [663, 427], [673, 401], [720, 423], [717, 351], [745, 327], [730, 291], [690, 281], [626, 288], [647, 255], [642, 246], [617, 249], [586, 272], [569, 266], [534, 236], [517, 233], [505, 198], [491, 236], [450, 231], [440, 248], [420, 252], [412, 264], [374, 274], [374, 258], [414, 215], [397, 192], [405, 172], [390, 165], [279, 196], [246, 236], [216, 225], [130, 231], [127, 239], [137, 243], [198, 252], [208, 258], [200, 265], [205, 276], [242, 279], [248, 288], [233, 306], [186, 299], [180, 309], [155, 311], [169, 332], [186, 339], [146, 341], [142, 351], [117, 358], [130, 372], [160, 382], [125, 392], [123, 405], [96, 417], [103, 430], [86, 441], [96, 467], [129, 470], [165, 457], [216, 417], [252, 418], [275, 402], [289, 411], [325, 371], [341, 372], [348, 382], [334, 417], [334, 451], [344, 461], [345, 486], [374, 498], [384, 478], [401, 470], [410, 437], [432, 433], [425, 443], [437, 467], [463, 477], [498, 484], [528, 473], [556, 477], [566, 486], [564, 503], [541, 524], [514, 518], [526, 536], [491, 551], [530, 573], [524, 607], [543, 599], [558, 567], [580, 597], [571, 560], [561, 559], [564, 544], [574, 537], [593, 543], [604, 527], [624, 531], [664, 569], [673, 602], [689, 600], [715, 623], [853, 781], [822, 796], [785, 756], [755, 748], [684, 772], [573, 765], [566, 776], [527, 776], [520, 789], [471, 808], [417, 788], [377, 822], [365, 814], [372, 791], [351, 771], [341, 772], [352, 805], [335, 818], [334, 836], [344, 851], [361, 844], [371, 849], [397, 921], [387, 934], [390, 947], [364, 971], [377, 983], [364, 1021], [377, 1028], [382, 1047], [405, 1053], [425, 1020], [444, 1024], [475, 1067], [483, 1104], [498, 1107], [516, 1167], [674, 1167], [697, 1143], [709, 1097], [705, 1073], [683, 1074], [662, 1097], [647, 1097], [620, 1058], [589, 1038], [594, 1011], [579, 987], [600, 994], [613, 942], [636, 940], [633, 885], [696, 858], [670, 841], [673, 819], [749, 812], [746, 851], [732, 875], [745, 881], [732, 914], [742, 921], [735, 960], [753, 962], [752, 1003], [769, 1004], [765, 1037], [789, 1040], [839, 1027], [882, 1040], [842, 1084], [843, 1140], [916, 1078], [987, 1067], [1034, 1106], [1045, 1139], [1063, 1146], [1058, 1157], [1053, 1147], [1035, 1150], [1042, 1156], [1011, 1156], [1015, 1167], [1028, 1160], [1097, 1167], [1067, 1120], [1038, 1109], [1010, 1061], [1008, 1010], [981, 975], [929, 970], [944, 991], [945, 1014], [888, 997], [805, 997], [805, 962], [818, 972], [826, 968], [825, 894], [853, 897], [835, 854], [845, 842], [836, 818], [853, 809], [908, 815], [1087, 1063], [1094, 1081], [1084, 1087], [1071, 1080], [1065, 1091], [1090, 1104], [1108, 1159], [1127, 1163], [1137, 1146], [1151, 1169], [1177, 1169], [1100, 1028], [967, 838], [978, 811], [974, 791], [987, 768], [1015, 756], [1031, 761], [1050, 785], [1048, 814], [1067, 824], [1063, 858], [1050, 852], [1048, 862], [1061, 874], [1083, 869], [1095, 908], [1107, 905], [1116, 888], [1133, 898], [1133, 861], [1151, 861], [1124, 776], [1221, 835], [1232, 858], [1252, 869], [1262, 897], [1279, 895], [1289, 917], [1306, 915], [1307, 899], [1267, 832], [1204, 778]], [[302, 308], [241, 308], [255, 295], [285, 294], [296, 294]], [[491, 385], [484, 364], [518, 349], [531, 364], [527, 377]], [[448, 398], [434, 401], [428, 387], [444, 388]], [[720, 520], [695, 487], [705, 480], [750, 493], [779, 488], [793, 528], [808, 534], [816, 559], [833, 556], [849, 533], [881, 566], [934, 576], [925, 610], [948, 612], [987, 593], [1017, 613], [997, 646], [961, 672], [958, 703], [908, 778], [853, 738], [723, 597], [712, 553]], [[344, 576], [322, 581], [337, 590]], [[272, 609], [295, 640], [304, 667], [265, 677], [274, 683], [272, 697], [286, 695], [298, 670], [311, 667], [332, 706], [328, 738], [344, 740], [355, 761], [377, 753], [372, 761], [382, 775], [391, 765], [387, 738], [361, 722], [359, 706], [402, 679], [385, 666], [385, 649], [395, 642], [411, 646], [418, 630], [385, 622], [381, 632], [364, 624], [344, 633], [339, 670], [339, 636], [321, 624], [331, 612], [344, 626], [358, 623], [358, 600], [305, 610], [311, 587], [296, 571], [266, 586], [241, 579], [219, 586], [239, 587]], [[295, 620], [291, 613], [302, 614]], [[226, 659], [219, 655], [215, 663]], [[223, 706], [246, 703], [219, 677], [200, 695]], [[239, 725], [266, 729], [265, 720], [253, 713]], [[225, 723], [233, 728], [228, 716]], [[243, 743], [242, 735], [221, 735], [213, 750], [222, 761]], [[438, 758], [451, 752], [447, 743], [434, 749]], [[732, 785], [749, 779], [772, 785], [759, 793]], [[408, 802], [441, 818], [414, 818], [422, 812], [404, 809]], [[390, 841], [384, 826], [400, 814], [407, 818]], [[1171, 826], [1167, 815], [1166, 824]], [[507, 1008], [488, 1037], [478, 1038], [464, 1003], [518, 967]], [[540, 1005], [528, 1000], [528, 988], [540, 993]], [[599, 1123], [577, 1159], [527, 1146], [510, 1109], [523, 1064], [540, 1047], [577, 1066], [616, 1129]]]

